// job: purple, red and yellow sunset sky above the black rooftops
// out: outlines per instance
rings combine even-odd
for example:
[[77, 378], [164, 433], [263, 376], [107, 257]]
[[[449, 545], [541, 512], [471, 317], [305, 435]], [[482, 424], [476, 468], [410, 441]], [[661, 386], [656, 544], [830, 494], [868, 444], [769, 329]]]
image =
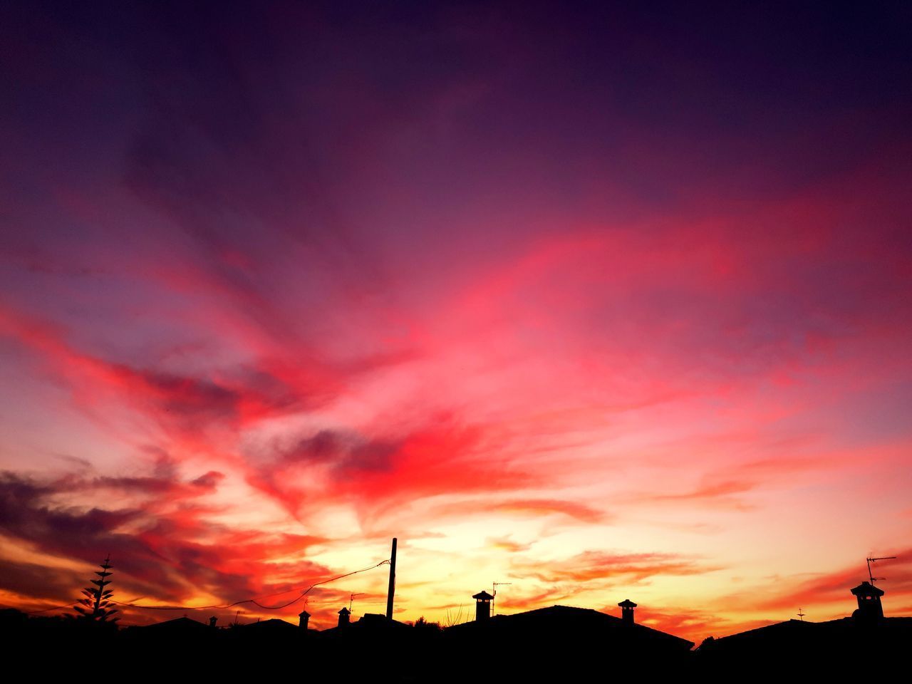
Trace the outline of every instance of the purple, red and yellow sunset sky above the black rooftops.
[[0, 606], [912, 615], [912, 5], [130, 5], [0, 8]]

